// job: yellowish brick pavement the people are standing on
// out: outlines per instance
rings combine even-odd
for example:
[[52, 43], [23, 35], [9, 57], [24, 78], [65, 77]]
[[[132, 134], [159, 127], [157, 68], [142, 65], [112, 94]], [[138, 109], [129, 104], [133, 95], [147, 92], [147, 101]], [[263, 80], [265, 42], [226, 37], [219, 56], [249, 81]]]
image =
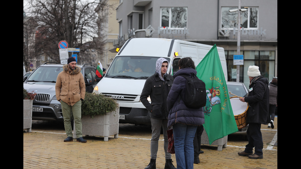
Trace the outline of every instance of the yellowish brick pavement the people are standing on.
[[[84, 137], [87, 143], [63, 142], [66, 134], [63, 130], [32, 129], [31, 133], [23, 132], [23, 168], [87, 168], [87, 169], [144, 169], [150, 160], [150, 130], [144, 126], [120, 124], [119, 138]], [[130, 131], [134, 131], [130, 132]], [[228, 146], [217, 151], [217, 146], [203, 145], [204, 154], [200, 154], [200, 164], [194, 168], [277, 168], [277, 117], [275, 128], [261, 126], [264, 140], [264, 158], [249, 159], [238, 156], [244, 151], [247, 141], [228, 137]], [[160, 137], [163, 139], [163, 136]], [[272, 145], [271, 145], [272, 144]], [[176, 166], [175, 155], [172, 155]], [[165, 164], [163, 141], [159, 140], [156, 167], [163, 169]]]

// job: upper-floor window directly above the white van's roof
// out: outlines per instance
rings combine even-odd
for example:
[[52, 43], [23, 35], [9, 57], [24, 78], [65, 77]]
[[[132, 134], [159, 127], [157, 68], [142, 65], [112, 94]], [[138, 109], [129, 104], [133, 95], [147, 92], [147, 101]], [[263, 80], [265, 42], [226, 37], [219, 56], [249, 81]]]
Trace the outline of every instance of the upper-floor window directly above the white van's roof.
[[162, 27], [187, 27], [187, 7], [162, 7], [160, 12]]

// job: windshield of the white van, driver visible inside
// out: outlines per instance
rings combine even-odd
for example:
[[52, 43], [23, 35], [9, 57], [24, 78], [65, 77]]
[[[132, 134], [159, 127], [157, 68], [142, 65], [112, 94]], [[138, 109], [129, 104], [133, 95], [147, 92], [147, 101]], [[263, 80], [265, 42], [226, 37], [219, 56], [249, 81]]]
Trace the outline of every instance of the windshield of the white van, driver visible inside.
[[[105, 77], [123, 79], [143, 79], [156, 71], [158, 57], [148, 56], [116, 56]], [[169, 58], [165, 58], [170, 61]]]

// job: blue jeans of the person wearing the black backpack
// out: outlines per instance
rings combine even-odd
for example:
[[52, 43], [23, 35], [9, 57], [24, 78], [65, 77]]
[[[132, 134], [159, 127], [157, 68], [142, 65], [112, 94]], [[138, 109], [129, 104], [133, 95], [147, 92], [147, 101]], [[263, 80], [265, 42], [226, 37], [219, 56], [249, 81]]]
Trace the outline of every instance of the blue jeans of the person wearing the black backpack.
[[173, 125], [177, 169], [193, 168], [193, 138], [196, 130], [196, 125], [184, 125], [182, 123]]

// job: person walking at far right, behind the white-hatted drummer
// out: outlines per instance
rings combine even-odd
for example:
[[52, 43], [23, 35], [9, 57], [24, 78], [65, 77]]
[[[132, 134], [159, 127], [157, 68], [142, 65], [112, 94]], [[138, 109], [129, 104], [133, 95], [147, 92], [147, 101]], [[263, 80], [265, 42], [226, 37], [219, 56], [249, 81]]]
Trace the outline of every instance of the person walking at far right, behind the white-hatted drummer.
[[272, 83], [269, 86], [269, 116], [268, 116], [268, 128], [272, 127], [274, 129], [274, 118], [275, 118], [275, 110], [278, 102], [278, 95], [277, 95], [277, 79], [272, 79]]

